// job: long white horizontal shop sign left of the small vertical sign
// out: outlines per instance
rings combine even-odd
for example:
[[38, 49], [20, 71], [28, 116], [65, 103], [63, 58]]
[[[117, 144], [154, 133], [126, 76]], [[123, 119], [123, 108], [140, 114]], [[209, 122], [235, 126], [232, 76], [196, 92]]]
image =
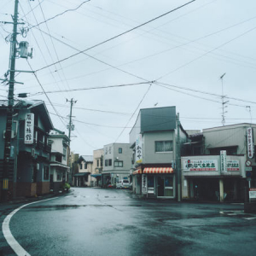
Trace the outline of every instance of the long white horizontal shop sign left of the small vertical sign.
[[218, 160], [185, 160], [184, 166], [189, 171], [217, 171]]

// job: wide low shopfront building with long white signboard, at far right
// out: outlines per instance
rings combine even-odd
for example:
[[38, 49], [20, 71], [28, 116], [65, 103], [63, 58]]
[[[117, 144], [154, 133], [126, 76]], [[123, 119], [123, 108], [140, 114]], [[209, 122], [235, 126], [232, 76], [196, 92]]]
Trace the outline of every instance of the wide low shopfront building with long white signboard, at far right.
[[190, 154], [182, 157], [183, 198], [247, 201], [247, 188], [256, 188], [255, 131], [252, 124], [225, 125], [190, 137]]

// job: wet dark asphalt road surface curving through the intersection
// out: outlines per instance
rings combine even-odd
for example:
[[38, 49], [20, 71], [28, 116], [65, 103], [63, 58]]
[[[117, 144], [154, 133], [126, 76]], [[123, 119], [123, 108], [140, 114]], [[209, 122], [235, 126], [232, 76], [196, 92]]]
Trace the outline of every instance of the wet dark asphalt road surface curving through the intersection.
[[[0, 206], [0, 220], [15, 206]], [[255, 255], [256, 215], [240, 204], [132, 198], [75, 188], [15, 213], [10, 230], [31, 255]], [[237, 211], [237, 212], [235, 212]], [[15, 255], [0, 234], [3, 255]], [[0, 253], [1, 255], [1, 253]]]

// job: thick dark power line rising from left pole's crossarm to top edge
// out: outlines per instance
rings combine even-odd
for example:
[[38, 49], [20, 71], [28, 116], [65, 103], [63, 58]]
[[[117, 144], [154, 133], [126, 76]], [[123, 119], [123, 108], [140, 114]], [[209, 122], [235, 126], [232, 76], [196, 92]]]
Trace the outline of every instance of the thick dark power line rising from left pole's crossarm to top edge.
[[[195, 2], [195, 0], [192, 0], [192, 1], [190, 1], [189, 3], [193, 3], [193, 2]], [[47, 68], [47, 67], [51, 67], [51, 66], [55, 65], [55, 64], [58, 63], [58, 62], [67, 61], [68, 59], [73, 58], [73, 57], [76, 56], [76, 55], [82, 54], [82, 53], [84, 53], [85, 51], [87, 51], [87, 50], [89, 50], [89, 49], [94, 49], [94, 48], [96, 48], [97, 46], [100, 46], [100, 45], [102, 45], [102, 44], [106, 44], [106, 43], [108, 43], [109, 41], [112, 41], [112, 40], [115, 39], [115, 38], [119, 38], [119, 37], [125, 35], [126, 33], [129, 33], [129, 32], [132, 32], [132, 31], [134, 31], [134, 30], [137, 30], [137, 28], [139, 28], [139, 27], [141, 27], [141, 26], [145, 26], [145, 25], [147, 25], [148, 23], [150, 23], [150, 22], [152, 22], [152, 21], [154, 21], [154, 20], [158, 20], [158, 19], [160, 19], [160, 18], [162, 18], [162, 17], [164, 17], [164, 16], [166, 16], [166, 15], [169, 15], [169, 14], [171, 14], [172, 12], [176, 11], [177, 9], [183, 8], [184, 6], [188, 5], [189, 3], [184, 3], [183, 5], [177, 7], [176, 9], [172, 9], [172, 10], [166, 12], [166, 13], [163, 14], [163, 15], [159, 15], [159, 16], [155, 17], [154, 19], [148, 20], [148, 21], [144, 22], [143, 24], [140, 24], [140, 25], [138, 25], [138, 26], [135, 26], [135, 27], [133, 27], [133, 28], [131, 28], [131, 29], [125, 31], [125, 32], [121, 32], [121, 33], [119, 33], [118, 35], [116, 35], [116, 36], [114, 36], [114, 37], [112, 37], [112, 38], [108, 38], [107, 40], [102, 41], [102, 42], [99, 43], [99, 44], [95, 44], [95, 45], [93, 45], [93, 46], [91, 46], [91, 47], [89, 47], [89, 48], [87, 48], [87, 49], [84, 49], [84, 50], [82, 50], [82, 51], [79, 51], [79, 52], [76, 53], [76, 54], [69, 55], [69, 56], [67, 56], [66, 58], [62, 59], [61, 61], [56, 61], [55, 63], [52, 63], [52, 64], [50, 64], [50, 65], [48, 65], [48, 66], [41, 67], [41, 68], [39, 68], [38, 70], [36, 70], [35, 72], [41, 71], [41, 70], [43, 70], [43, 69], [45, 69], [45, 68]]]

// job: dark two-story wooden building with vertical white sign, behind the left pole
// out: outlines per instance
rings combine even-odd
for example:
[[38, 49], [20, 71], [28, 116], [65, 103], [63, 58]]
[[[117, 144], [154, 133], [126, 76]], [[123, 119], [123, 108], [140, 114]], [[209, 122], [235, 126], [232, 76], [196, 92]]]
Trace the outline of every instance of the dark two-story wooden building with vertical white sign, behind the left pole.
[[[0, 103], [0, 133], [4, 135], [7, 101]], [[9, 160], [9, 195], [11, 198], [49, 193], [51, 148], [48, 139], [49, 131], [52, 129], [53, 125], [44, 102], [15, 102], [12, 153]], [[3, 136], [0, 137], [0, 145], [0, 159], [3, 161]], [[3, 177], [3, 168], [0, 170], [0, 180], [1, 177]]]

